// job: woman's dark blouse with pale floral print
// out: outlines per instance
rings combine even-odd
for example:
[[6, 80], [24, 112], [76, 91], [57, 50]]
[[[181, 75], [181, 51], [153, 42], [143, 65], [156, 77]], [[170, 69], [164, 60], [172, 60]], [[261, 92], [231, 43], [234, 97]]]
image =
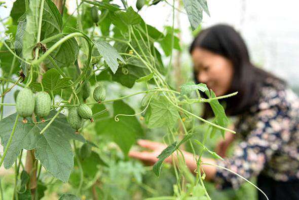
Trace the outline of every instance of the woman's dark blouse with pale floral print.
[[[299, 179], [299, 98], [282, 84], [266, 83], [258, 104], [237, 117], [242, 142], [232, 157], [217, 164], [246, 179], [259, 174], [277, 181]], [[219, 188], [238, 188], [244, 182], [219, 168], [214, 181]]]

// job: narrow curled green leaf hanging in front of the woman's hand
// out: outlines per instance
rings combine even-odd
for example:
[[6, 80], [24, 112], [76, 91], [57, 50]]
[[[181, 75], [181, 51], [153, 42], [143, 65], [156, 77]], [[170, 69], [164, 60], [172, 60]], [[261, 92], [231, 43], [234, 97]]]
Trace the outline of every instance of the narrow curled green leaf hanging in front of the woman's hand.
[[169, 145], [168, 147], [166, 147], [161, 152], [161, 154], [157, 157], [157, 158], [159, 158], [159, 160], [153, 166], [153, 171], [156, 174], [156, 176], [158, 176], [158, 177], [160, 176], [161, 166], [162, 166], [163, 161], [166, 158], [168, 158], [173, 152], [175, 152], [181, 144], [188, 141], [193, 136], [194, 136], [194, 134], [187, 134], [184, 136], [184, 138], [178, 144], [176, 144], [176, 142], [174, 142], [171, 145]]

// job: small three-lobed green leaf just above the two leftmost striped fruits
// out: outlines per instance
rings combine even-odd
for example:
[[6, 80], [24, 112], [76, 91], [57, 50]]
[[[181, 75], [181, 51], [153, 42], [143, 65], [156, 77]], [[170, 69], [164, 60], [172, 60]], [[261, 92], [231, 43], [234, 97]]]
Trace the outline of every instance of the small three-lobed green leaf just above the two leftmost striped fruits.
[[[42, 84], [44, 86], [44, 91], [47, 92], [53, 92], [54, 94], [60, 94], [61, 89], [69, 87], [71, 85], [70, 83], [71, 78], [60, 78], [59, 72], [52, 68], [48, 70], [42, 80]], [[42, 86], [40, 83], [31, 83], [34, 90], [41, 91]]]

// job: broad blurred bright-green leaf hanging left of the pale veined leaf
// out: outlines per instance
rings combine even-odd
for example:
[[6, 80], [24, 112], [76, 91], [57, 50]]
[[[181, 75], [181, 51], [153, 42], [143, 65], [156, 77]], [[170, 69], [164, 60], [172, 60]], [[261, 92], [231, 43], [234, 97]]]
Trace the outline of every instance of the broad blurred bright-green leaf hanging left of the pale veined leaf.
[[131, 146], [136, 142], [136, 137], [143, 134], [143, 129], [135, 116], [118, 116], [119, 121], [115, 121], [117, 114], [135, 114], [129, 105], [123, 101], [117, 101], [114, 102], [113, 109], [113, 117], [96, 123], [96, 131], [97, 134], [109, 136], [127, 155]]

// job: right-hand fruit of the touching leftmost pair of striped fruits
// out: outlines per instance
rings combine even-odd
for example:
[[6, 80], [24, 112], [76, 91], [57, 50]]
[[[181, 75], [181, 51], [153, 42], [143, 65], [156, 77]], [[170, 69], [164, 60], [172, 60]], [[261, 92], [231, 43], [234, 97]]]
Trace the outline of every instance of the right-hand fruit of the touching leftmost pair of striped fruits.
[[47, 117], [50, 113], [51, 97], [47, 92], [38, 92], [35, 94], [34, 99], [34, 113], [42, 119], [42, 122], [44, 122], [44, 117]]

